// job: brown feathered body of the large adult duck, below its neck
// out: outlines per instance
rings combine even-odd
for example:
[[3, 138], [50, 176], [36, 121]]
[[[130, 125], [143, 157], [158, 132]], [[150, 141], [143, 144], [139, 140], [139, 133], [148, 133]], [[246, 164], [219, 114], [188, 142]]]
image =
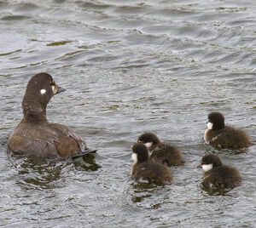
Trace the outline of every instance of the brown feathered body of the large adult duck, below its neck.
[[86, 150], [84, 140], [57, 123], [19, 123], [8, 140], [9, 151], [18, 155], [67, 158]]

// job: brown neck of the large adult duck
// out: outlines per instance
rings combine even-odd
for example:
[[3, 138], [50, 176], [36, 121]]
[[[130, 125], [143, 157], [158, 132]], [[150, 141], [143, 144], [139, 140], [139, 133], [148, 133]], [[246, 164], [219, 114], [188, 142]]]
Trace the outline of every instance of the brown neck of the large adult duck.
[[38, 102], [22, 102], [23, 123], [48, 123], [46, 118], [46, 107]]

